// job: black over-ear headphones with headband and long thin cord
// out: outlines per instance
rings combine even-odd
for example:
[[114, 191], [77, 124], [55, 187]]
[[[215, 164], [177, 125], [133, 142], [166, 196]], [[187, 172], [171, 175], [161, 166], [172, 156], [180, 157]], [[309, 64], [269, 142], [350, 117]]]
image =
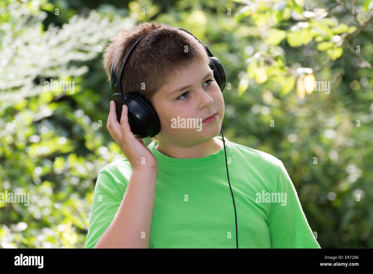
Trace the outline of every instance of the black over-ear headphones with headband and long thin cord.
[[[178, 28], [178, 29], [181, 29], [181, 28]], [[181, 29], [181, 30], [187, 32], [188, 34], [192, 35], [195, 39], [197, 39], [193, 34], [186, 31], [185, 29]], [[126, 95], [123, 95], [122, 79], [123, 79], [124, 67], [126, 65], [128, 58], [131, 56], [132, 51], [134, 50], [136, 45], [141, 41], [141, 39], [144, 38], [146, 35], [150, 34], [150, 32], [142, 35], [141, 38], [137, 40], [137, 42], [132, 46], [131, 50], [128, 52], [126, 58], [123, 61], [122, 67], [120, 68], [119, 81], [115, 74], [114, 62], [112, 64], [111, 73], [110, 73], [111, 83], [112, 83], [112, 101], [115, 102], [117, 120], [120, 122], [120, 117], [122, 116], [122, 107], [123, 105], [126, 105], [128, 107], [129, 127], [131, 128], [132, 134], [134, 134], [135, 137], [139, 137], [139, 138], [154, 137], [160, 132], [161, 124], [159, 121], [159, 117], [157, 115], [157, 112], [151, 105], [151, 103], [148, 102], [140, 94], [131, 92], [131, 93], [127, 93]], [[197, 39], [197, 41], [201, 43], [200, 40]], [[225, 88], [225, 84], [226, 84], [225, 71], [224, 71], [223, 65], [222, 63], [220, 63], [219, 59], [214, 57], [214, 55], [210, 52], [207, 46], [203, 45], [203, 47], [206, 48], [207, 54], [209, 55], [209, 59], [210, 59], [209, 66], [214, 71], [213, 72], [214, 79], [219, 85], [220, 90], [223, 92], [223, 89]], [[221, 128], [221, 132], [222, 132], [222, 138], [223, 138], [223, 144], [224, 144], [224, 152], [225, 152], [225, 160], [226, 160], [225, 163], [227, 167], [228, 183], [229, 183], [229, 187], [231, 188], [233, 206], [234, 206], [234, 211], [235, 211], [236, 244], [238, 248], [236, 206], [234, 203], [231, 183], [229, 182], [227, 153], [225, 150], [223, 128]]]

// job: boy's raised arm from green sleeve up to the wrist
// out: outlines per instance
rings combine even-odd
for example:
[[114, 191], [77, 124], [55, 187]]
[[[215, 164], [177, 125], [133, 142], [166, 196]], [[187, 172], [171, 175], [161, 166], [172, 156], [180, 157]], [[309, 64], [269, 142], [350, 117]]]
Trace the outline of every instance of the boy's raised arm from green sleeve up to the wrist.
[[85, 248], [148, 248], [157, 170], [133, 170], [125, 195], [99, 172]]

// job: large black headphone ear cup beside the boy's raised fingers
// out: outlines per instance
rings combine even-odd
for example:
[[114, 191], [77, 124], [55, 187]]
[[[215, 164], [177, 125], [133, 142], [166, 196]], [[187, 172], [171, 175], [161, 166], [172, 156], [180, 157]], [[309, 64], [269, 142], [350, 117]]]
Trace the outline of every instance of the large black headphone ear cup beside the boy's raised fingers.
[[[154, 137], [160, 132], [160, 121], [150, 102], [137, 93], [124, 95], [128, 107], [128, 123], [135, 137]], [[127, 97], [127, 99], [126, 99]]]

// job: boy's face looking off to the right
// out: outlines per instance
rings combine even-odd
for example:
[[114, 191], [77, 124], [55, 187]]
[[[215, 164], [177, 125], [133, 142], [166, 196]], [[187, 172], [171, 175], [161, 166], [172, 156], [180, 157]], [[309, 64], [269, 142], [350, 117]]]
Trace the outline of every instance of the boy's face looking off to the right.
[[[209, 75], [205, 77], [207, 74]], [[170, 94], [175, 89], [185, 86], [189, 87]], [[160, 133], [157, 134], [160, 143], [178, 147], [192, 146], [206, 142], [219, 134], [224, 117], [224, 99], [213, 77], [213, 70], [208, 64], [192, 64], [182, 75], [181, 80], [164, 86], [153, 99], [161, 123]], [[200, 122], [215, 113], [216, 120]], [[189, 128], [181, 128], [182, 118], [185, 118], [185, 127], [189, 124]], [[189, 122], [187, 118], [195, 118], [196, 123]]]

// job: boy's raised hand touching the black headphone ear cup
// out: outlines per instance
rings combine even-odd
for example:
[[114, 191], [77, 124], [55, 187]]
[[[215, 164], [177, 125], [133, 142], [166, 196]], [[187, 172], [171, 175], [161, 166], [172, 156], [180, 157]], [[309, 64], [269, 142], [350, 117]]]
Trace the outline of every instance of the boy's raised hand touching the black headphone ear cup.
[[123, 105], [120, 124], [116, 117], [115, 102], [110, 102], [110, 112], [106, 128], [116, 141], [133, 169], [155, 168], [158, 162], [154, 154], [145, 146], [141, 138], [135, 137], [128, 124], [128, 107]]

